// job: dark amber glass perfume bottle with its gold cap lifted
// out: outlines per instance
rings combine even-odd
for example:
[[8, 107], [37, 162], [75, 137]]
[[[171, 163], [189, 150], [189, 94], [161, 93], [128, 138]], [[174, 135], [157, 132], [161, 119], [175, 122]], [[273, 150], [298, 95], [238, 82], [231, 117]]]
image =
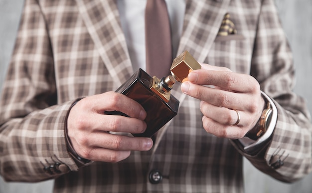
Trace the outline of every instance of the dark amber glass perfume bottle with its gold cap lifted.
[[[151, 77], [141, 68], [123, 83], [115, 92], [126, 95], [137, 101], [147, 112], [144, 120], [147, 129], [141, 134], [132, 134], [135, 137], [152, 137], [163, 125], [170, 121], [178, 111], [179, 101], [170, 94], [176, 81], [182, 82], [190, 70], [200, 69], [201, 66], [189, 54], [184, 51], [177, 56], [171, 65], [172, 75], [161, 79]], [[122, 112], [105, 112], [111, 115], [128, 116]]]

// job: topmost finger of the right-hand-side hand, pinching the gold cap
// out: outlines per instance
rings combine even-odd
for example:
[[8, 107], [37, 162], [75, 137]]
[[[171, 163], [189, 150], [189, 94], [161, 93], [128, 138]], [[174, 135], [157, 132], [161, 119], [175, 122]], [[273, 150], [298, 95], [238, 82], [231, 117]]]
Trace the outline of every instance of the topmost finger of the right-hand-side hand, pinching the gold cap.
[[194, 84], [214, 85], [236, 92], [260, 90], [259, 83], [252, 76], [229, 71], [195, 70], [188, 74], [188, 80]]

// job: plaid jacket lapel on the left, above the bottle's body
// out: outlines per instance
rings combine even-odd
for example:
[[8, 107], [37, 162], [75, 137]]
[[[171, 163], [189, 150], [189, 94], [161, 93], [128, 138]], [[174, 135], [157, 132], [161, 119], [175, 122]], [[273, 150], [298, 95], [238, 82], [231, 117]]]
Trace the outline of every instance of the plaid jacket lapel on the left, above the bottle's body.
[[116, 85], [134, 72], [115, 0], [76, 0], [84, 23]]

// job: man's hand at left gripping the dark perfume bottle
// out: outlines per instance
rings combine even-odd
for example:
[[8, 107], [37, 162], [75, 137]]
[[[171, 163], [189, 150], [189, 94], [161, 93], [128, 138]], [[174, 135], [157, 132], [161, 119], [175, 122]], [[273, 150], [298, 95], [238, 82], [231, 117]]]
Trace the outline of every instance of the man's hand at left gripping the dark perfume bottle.
[[[120, 111], [129, 117], [106, 115], [105, 111]], [[148, 151], [150, 138], [115, 135], [109, 132], [143, 133], [147, 124], [146, 112], [127, 96], [107, 92], [81, 99], [70, 110], [67, 133], [76, 153], [85, 159], [99, 162], [119, 162], [134, 151]]]

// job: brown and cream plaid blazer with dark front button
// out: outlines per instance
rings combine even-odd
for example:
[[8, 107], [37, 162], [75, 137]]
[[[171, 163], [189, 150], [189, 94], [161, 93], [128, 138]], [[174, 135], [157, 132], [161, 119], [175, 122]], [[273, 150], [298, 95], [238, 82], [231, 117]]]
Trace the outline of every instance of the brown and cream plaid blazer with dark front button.
[[[230, 13], [236, 34], [217, 35]], [[0, 101], [0, 174], [7, 181], [56, 179], [57, 193], [243, 192], [242, 155], [285, 182], [311, 171], [310, 115], [292, 92], [292, 54], [273, 0], [186, 0], [178, 53], [254, 76], [278, 109], [267, 146], [249, 155], [202, 129], [199, 101], [180, 92], [178, 115], [149, 152], [80, 166], [66, 150], [64, 122], [79, 97], [114, 91], [133, 73], [115, 0], [26, 0]], [[284, 160], [278, 169], [270, 159]], [[285, 153], [282, 155], [282, 152]], [[275, 157], [276, 158], [276, 157]], [[53, 174], [44, 166], [62, 163]], [[157, 169], [160, 184], [148, 175]]]

